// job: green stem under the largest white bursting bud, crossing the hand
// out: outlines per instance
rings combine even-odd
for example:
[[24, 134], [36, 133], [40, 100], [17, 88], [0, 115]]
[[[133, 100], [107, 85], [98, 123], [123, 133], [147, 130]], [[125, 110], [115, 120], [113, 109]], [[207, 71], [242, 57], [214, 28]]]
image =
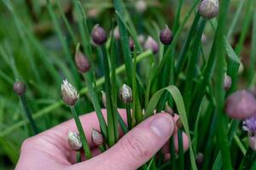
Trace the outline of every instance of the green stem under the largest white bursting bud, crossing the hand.
[[90, 159], [91, 158], [90, 147], [89, 147], [87, 139], [85, 137], [82, 124], [79, 120], [79, 116], [78, 116], [74, 106], [70, 106], [70, 110], [72, 112], [73, 119], [76, 122], [77, 128], [79, 130], [79, 136], [80, 136], [80, 139], [81, 139], [81, 142], [82, 142], [82, 145], [83, 145], [84, 155], [87, 159]]

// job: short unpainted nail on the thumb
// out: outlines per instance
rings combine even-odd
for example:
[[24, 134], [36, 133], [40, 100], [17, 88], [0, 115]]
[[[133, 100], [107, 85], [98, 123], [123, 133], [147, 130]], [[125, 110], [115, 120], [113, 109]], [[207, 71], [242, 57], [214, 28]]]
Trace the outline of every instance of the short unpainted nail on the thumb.
[[160, 138], [171, 136], [173, 131], [173, 121], [171, 116], [156, 116], [150, 124], [152, 131]]

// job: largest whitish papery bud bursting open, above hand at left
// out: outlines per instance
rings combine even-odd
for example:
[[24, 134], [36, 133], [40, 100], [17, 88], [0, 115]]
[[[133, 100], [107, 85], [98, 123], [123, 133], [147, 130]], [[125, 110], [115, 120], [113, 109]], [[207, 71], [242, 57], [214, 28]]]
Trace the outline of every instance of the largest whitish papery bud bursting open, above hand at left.
[[67, 80], [63, 80], [61, 84], [61, 94], [62, 99], [67, 105], [75, 105], [76, 101], [79, 99], [79, 94]]

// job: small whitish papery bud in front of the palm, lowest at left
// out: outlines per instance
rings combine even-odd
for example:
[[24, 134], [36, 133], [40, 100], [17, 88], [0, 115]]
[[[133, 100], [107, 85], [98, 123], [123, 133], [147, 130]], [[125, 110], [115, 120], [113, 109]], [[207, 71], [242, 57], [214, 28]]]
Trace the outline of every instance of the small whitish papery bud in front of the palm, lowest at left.
[[78, 151], [82, 149], [82, 142], [80, 140], [79, 133], [73, 133], [69, 131], [67, 134], [67, 139], [69, 147], [72, 150]]

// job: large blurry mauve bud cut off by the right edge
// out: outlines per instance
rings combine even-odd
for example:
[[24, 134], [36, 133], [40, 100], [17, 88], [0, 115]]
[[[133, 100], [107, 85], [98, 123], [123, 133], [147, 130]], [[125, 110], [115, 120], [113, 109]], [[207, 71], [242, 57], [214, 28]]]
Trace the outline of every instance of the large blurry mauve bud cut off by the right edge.
[[256, 113], [256, 99], [246, 90], [231, 94], [225, 102], [225, 112], [234, 119], [247, 119]]

